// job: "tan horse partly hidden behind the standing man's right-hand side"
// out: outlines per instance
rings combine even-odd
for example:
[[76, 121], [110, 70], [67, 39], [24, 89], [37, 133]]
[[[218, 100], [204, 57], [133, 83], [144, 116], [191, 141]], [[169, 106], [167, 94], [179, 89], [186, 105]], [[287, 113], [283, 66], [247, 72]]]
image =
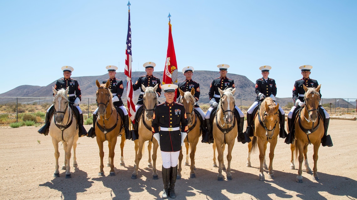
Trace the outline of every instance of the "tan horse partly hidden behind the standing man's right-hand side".
[[[180, 94], [182, 96], [181, 98], [181, 104], [183, 104], [183, 107], [185, 107], [186, 110], [186, 115], [187, 115], [187, 122], [188, 122], [188, 130], [190, 133], [187, 134], [187, 137], [185, 138], [185, 146], [186, 146], [186, 162], [185, 165], [188, 165], [188, 160], [187, 160], [187, 146], [191, 149], [190, 152], [190, 158], [191, 158], [191, 172], [190, 172], [190, 178], [196, 178], [195, 174], [195, 153], [196, 153], [196, 147], [198, 143], [198, 139], [200, 138], [202, 132], [201, 132], [201, 123], [200, 120], [198, 120], [198, 116], [196, 115], [195, 111], [193, 110], [194, 105], [195, 105], [195, 88], [191, 89], [191, 92], [183, 92], [181, 89], [178, 89], [180, 91]], [[181, 163], [182, 163], [182, 147], [180, 151], [180, 156], [178, 157], [178, 170], [177, 170], [177, 179], [181, 179]]]

